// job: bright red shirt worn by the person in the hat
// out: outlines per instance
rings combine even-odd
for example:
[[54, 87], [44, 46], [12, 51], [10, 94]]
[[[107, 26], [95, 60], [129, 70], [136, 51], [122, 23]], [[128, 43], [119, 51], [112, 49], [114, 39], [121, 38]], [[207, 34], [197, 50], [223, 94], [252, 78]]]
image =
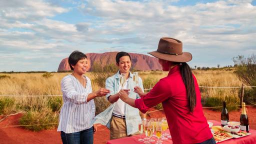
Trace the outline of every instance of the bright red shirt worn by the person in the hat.
[[180, 66], [170, 69], [149, 93], [135, 100], [136, 107], [145, 113], [149, 107], [162, 102], [173, 143], [199, 143], [210, 139], [212, 134], [203, 115], [201, 96], [193, 75], [196, 105], [189, 111], [186, 88], [180, 74]]

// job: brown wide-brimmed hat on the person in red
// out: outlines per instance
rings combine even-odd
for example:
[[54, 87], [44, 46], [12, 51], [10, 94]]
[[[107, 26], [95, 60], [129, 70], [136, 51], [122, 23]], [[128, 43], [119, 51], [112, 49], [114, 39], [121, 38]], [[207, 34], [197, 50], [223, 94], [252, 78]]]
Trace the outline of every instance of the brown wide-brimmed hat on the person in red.
[[182, 52], [182, 42], [175, 38], [162, 37], [156, 51], [147, 52], [154, 57], [174, 62], [187, 62], [192, 59], [192, 54]]

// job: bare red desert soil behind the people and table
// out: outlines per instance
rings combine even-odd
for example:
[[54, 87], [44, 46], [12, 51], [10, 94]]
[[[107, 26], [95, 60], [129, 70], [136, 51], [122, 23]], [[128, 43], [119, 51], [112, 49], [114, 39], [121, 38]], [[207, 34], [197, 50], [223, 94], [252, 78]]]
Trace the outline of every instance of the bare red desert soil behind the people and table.
[[[155, 110], [151, 108], [149, 111]], [[220, 121], [220, 112], [212, 111], [207, 108], [203, 109], [205, 117], [209, 120]], [[230, 121], [239, 121], [239, 111], [229, 112]], [[247, 106], [247, 114], [249, 117], [249, 124], [251, 129], [256, 129], [256, 107]], [[60, 133], [56, 129], [42, 130], [40, 132], [33, 132], [25, 130], [21, 127], [5, 127], [6, 125], [19, 125], [18, 119], [22, 114], [11, 115], [0, 122], [0, 143], [61, 143]], [[149, 113], [149, 117], [163, 117], [162, 110]], [[2, 118], [0, 116], [0, 118]], [[106, 143], [109, 139], [109, 130], [105, 126], [99, 126], [98, 131], [94, 134], [94, 143]]]

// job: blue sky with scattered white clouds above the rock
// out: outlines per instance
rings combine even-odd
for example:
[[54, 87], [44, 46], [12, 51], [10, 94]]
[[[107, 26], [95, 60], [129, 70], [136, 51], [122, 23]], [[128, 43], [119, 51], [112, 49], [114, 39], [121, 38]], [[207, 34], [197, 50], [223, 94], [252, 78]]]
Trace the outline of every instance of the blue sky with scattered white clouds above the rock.
[[56, 71], [73, 50], [156, 50], [183, 42], [191, 67], [256, 53], [256, 0], [0, 0], [0, 71]]

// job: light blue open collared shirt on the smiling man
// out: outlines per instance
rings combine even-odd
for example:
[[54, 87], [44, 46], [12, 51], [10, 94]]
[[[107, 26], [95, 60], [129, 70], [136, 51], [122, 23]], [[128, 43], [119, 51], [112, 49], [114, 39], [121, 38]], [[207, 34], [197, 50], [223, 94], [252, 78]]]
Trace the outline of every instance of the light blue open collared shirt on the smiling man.
[[[130, 89], [129, 97], [133, 99], [140, 98], [139, 95], [132, 90], [134, 89], [134, 82], [132, 80], [133, 74], [129, 72], [129, 78], [128, 78], [128, 87]], [[115, 73], [114, 75], [108, 77], [106, 79], [106, 88], [110, 90], [110, 93], [106, 95], [106, 99], [110, 95], [114, 95], [118, 93], [118, 88], [119, 88], [119, 79], [120, 79], [120, 74], [119, 71]], [[143, 88], [143, 83], [141, 78], [138, 76], [138, 86]], [[107, 107], [104, 111], [99, 113], [94, 117], [92, 120], [92, 123], [100, 123], [102, 125], [106, 125], [108, 128], [110, 128], [110, 120], [112, 117], [113, 109], [114, 109], [115, 102], [110, 104], [109, 107]], [[125, 106], [125, 122], [126, 122], [126, 130], [127, 130], [127, 135], [135, 133], [138, 131], [138, 123], [141, 122], [141, 117], [139, 116], [139, 110], [137, 108], [134, 108], [128, 104]]]

